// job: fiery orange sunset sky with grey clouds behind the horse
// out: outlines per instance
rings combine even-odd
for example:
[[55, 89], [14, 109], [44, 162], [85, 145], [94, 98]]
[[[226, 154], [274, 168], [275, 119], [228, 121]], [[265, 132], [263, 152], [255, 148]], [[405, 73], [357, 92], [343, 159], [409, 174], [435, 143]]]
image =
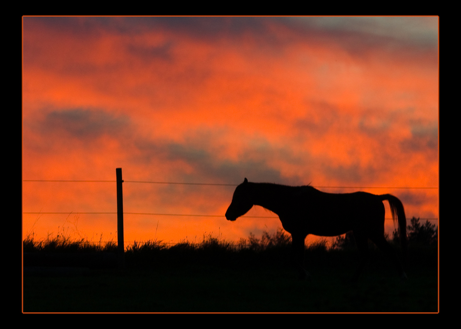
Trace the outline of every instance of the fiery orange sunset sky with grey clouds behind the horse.
[[[386, 188], [438, 187], [438, 17], [24, 17], [22, 111], [24, 180], [384, 187], [319, 189], [438, 217], [438, 189]], [[227, 221], [234, 189], [124, 182], [124, 212], [222, 216], [125, 214], [125, 241], [281, 227]], [[115, 182], [23, 182], [23, 236], [116, 240], [81, 214], [116, 211]]]

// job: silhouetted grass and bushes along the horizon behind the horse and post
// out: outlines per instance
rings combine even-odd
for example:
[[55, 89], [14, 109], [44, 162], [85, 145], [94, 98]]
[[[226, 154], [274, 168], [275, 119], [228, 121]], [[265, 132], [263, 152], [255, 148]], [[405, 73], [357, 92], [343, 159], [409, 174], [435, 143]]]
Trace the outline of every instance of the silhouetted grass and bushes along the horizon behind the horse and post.
[[[407, 226], [408, 244], [410, 247], [433, 247], [437, 246], [437, 228], [435, 224], [426, 223], [421, 224], [420, 218], [413, 217], [411, 224]], [[400, 244], [399, 234], [397, 229], [392, 234], [390, 241], [396, 245]], [[25, 253], [36, 252], [116, 252], [117, 243], [115, 241], [109, 242], [92, 242], [84, 238], [79, 240], [72, 240], [69, 236], [58, 235], [51, 239], [44, 239], [34, 241], [33, 235], [29, 235], [23, 242]], [[211, 234], [203, 236], [203, 240], [199, 243], [190, 241], [181, 241], [174, 245], [168, 245], [163, 241], [148, 240], [145, 242], [134, 241], [126, 248], [126, 254], [135, 255], [135, 258], [143, 259], [159, 253], [176, 253], [188, 254], [198, 253], [200, 256], [214, 254], [248, 254], [248, 253], [274, 253], [275, 251], [283, 252], [289, 251], [291, 247], [291, 236], [283, 229], [279, 228], [275, 233], [263, 232], [260, 238], [250, 233], [248, 239], [240, 239], [238, 242], [225, 241], [219, 237], [213, 237]], [[325, 240], [318, 241], [311, 246], [308, 246], [307, 252], [314, 252], [314, 250], [328, 251], [329, 249], [335, 250], [349, 250], [355, 249], [355, 239], [352, 231], [346, 233], [344, 236], [337, 236], [333, 241], [331, 247], [328, 247]], [[171, 255], [172, 256], [172, 255]]]

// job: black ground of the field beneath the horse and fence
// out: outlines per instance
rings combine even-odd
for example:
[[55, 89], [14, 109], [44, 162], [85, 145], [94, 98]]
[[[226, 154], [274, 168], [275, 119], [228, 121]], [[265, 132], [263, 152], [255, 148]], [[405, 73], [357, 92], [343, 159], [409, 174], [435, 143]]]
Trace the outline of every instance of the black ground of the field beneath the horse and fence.
[[34, 264], [24, 257], [23, 311], [438, 311], [437, 247], [410, 245], [408, 280], [402, 281], [384, 254], [371, 246], [369, 264], [352, 283], [356, 248], [328, 250], [319, 244], [306, 250], [312, 280], [300, 281], [285, 238], [273, 245], [253, 241], [238, 250], [213, 238], [199, 246], [137, 245], [125, 253], [124, 270], [92, 263], [90, 268], [48, 267], [44, 272], [29, 265], [50, 266], [49, 260]]

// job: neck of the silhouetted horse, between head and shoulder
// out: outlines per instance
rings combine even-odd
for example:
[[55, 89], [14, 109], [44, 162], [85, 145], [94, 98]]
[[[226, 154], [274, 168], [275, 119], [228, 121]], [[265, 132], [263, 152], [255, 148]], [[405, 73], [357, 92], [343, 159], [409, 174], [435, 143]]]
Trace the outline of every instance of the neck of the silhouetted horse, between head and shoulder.
[[248, 183], [254, 205], [261, 206], [279, 214], [280, 205], [283, 204], [284, 189], [287, 186], [271, 183]]

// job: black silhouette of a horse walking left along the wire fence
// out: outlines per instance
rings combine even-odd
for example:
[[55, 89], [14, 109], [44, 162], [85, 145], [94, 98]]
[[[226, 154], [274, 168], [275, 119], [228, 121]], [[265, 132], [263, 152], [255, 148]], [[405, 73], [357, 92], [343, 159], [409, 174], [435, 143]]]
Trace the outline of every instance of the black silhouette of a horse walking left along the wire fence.
[[226, 211], [227, 220], [235, 221], [254, 205], [278, 215], [283, 228], [291, 234], [293, 252], [300, 278], [310, 278], [304, 269], [304, 240], [308, 234], [341, 235], [353, 231], [361, 254], [356, 280], [368, 259], [368, 239], [393, 261], [402, 279], [406, 279], [396, 252], [384, 237], [384, 204], [388, 200], [394, 222], [398, 219], [402, 251], [407, 249], [407, 221], [402, 202], [390, 194], [366, 192], [325, 193], [312, 186], [286, 186], [272, 183], [244, 182], [238, 185]]

